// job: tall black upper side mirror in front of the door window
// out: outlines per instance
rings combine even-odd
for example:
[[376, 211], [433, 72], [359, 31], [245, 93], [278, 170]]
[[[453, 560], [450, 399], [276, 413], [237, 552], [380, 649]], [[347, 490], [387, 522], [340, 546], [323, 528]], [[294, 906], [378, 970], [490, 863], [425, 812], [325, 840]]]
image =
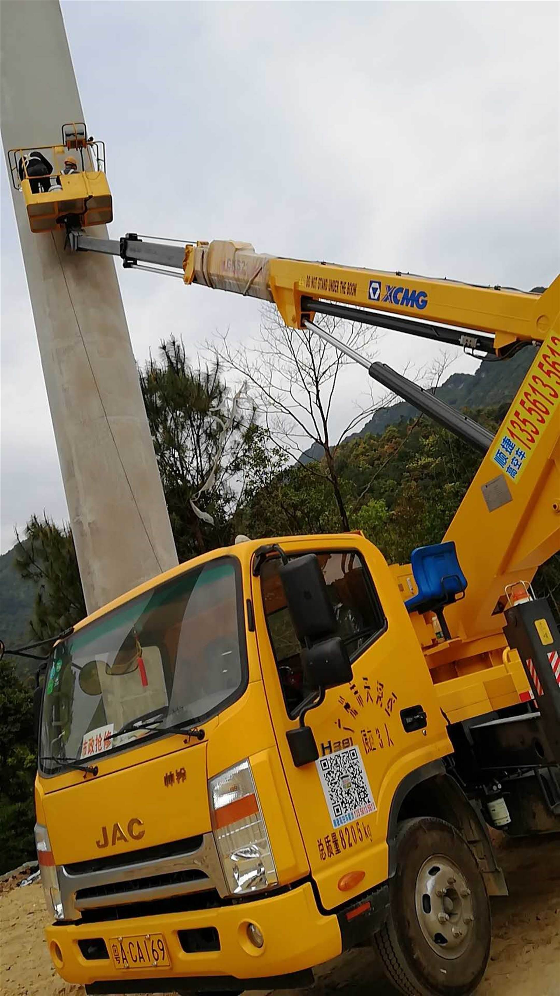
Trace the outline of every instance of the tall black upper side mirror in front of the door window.
[[336, 617], [315, 554], [294, 557], [280, 566], [285, 601], [301, 643], [336, 632]]

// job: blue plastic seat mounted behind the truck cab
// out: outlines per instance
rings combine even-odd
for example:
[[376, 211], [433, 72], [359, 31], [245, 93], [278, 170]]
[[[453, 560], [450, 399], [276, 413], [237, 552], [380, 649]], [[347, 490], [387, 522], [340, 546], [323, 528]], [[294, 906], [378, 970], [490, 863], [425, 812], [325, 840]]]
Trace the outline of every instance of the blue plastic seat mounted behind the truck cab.
[[453, 541], [435, 543], [431, 547], [417, 547], [411, 556], [412, 572], [418, 586], [418, 595], [405, 602], [409, 613], [427, 613], [432, 610], [442, 623], [449, 639], [449, 629], [443, 609], [457, 601], [467, 588], [467, 578], [461, 570]]

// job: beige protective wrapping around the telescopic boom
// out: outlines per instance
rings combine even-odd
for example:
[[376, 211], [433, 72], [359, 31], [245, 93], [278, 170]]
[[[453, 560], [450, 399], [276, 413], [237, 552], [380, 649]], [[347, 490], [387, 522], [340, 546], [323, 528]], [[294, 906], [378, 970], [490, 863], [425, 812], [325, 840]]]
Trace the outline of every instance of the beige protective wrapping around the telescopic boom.
[[199, 242], [185, 250], [185, 283], [273, 301], [269, 262], [250, 242]]

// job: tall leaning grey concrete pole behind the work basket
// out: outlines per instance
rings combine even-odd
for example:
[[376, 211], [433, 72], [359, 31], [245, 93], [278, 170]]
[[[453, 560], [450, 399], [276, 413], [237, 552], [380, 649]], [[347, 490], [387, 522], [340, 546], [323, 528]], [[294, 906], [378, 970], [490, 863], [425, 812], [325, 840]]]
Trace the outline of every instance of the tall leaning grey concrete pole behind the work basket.
[[[0, 31], [5, 153], [60, 143], [62, 124], [85, 118], [58, 0], [1, 0]], [[10, 186], [92, 613], [177, 554], [112, 258], [65, 252], [64, 232], [34, 235]], [[107, 238], [104, 226], [88, 233]]]

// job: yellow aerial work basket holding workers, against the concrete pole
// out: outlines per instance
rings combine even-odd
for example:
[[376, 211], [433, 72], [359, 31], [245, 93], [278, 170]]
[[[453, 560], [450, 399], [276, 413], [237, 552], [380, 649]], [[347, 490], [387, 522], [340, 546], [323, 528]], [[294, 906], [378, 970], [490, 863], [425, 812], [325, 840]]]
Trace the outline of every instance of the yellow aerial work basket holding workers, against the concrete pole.
[[112, 221], [104, 142], [87, 135], [84, 122], [63, 124], [60, 145], [9, 150], [12, 182], [23, 193], [32, 232]]

